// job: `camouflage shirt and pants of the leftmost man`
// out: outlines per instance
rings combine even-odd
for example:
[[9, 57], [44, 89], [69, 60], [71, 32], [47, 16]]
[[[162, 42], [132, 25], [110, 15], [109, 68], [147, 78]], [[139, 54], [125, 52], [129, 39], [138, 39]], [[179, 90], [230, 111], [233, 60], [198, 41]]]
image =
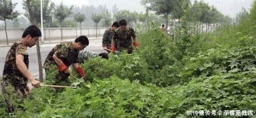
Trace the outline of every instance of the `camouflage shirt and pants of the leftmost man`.
[[27, 46], [25, 46], [22, 41], [13, 43], [7, 53], [6, 61], [3, 67], [3, 80], [1, 80], [1, 88], [3, 97], [7, 104], [8, 112], [14, 112], [12, 105], [13, 96], [11, 96], [13, 92], [17, 92], [20, 98], [27, 98], [26, 86], [28, 79], [17, 68], [17, 54], [24, 55], [24, 63], [28, 68]]

